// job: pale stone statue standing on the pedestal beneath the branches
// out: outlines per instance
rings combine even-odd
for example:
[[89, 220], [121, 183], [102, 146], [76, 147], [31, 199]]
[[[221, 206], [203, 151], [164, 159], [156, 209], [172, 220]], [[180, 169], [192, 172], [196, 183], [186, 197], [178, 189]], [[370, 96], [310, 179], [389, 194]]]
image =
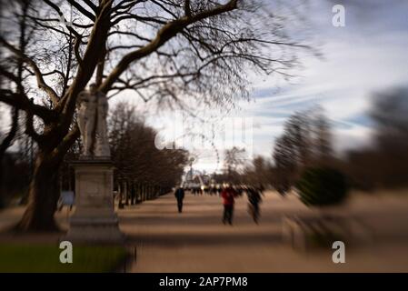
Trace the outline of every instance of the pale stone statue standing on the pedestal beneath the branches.
[[89, 85], [89, 90], [78, 95], [78, 125], [84, 143], [82, 156], [111, 156], [107, 138], [107, 113], [106, 95], [97, 91], [95, 84]]

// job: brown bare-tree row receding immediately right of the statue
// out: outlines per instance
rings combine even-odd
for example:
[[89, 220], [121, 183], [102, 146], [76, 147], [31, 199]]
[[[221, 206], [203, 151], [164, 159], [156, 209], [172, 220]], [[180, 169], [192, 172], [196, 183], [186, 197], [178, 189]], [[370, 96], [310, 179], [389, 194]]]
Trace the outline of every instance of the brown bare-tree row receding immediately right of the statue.
[[154, 146], [157, 132], [144, 124], [133, 105], [118, 104], [108, 125], [112, 159], [117, 169], [115, 184], [126, 205], [162, 195], [181, 183], [188, 152], [157, 149]]

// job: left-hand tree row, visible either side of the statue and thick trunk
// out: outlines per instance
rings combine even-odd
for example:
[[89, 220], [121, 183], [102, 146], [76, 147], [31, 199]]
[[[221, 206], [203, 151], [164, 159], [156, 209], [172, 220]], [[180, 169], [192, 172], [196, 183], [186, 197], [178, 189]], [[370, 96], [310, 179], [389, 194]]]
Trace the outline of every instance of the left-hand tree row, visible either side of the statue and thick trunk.
[[[114, 188], [124, 204], [134, 204], [167, 193], [180, 184], [187, 164], [188, 152], [182, 149], [158, 150], [154, 146], [157, 134], [154, 128], [145, 125], [134, 105], [119, 103], [108, 120], [109, 140], [114, 162]], [[26, 196], [31, 176], [30, 151], [26, 135], [17, 132], [16, 148], [3, 158], [1, 195], [7, 198]], [[61, 188], [75, 188], [74, 170], [70, 162], [79, 157], [81, 141], [75, 142], [65, 156], [59, 171]]]

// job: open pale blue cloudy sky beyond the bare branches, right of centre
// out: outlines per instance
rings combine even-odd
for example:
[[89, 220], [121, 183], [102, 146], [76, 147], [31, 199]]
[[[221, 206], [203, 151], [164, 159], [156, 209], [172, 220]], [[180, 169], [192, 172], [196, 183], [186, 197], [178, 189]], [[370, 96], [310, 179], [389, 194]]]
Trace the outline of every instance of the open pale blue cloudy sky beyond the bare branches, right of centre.
[[[344, 27], [332, 24], [336, 4], [345, 7]], [[313, 105], [323, 106], [332, 120], [338, 153], [369, 145], [373, 133], [367, 115], [371, 97], [375, 92], [408, 84], [408, 1], [315, 0], [306, 13], [309, 34], [323, 57], [304, 55], [304, 68], [296, 72], [300, 77], [290, 83], [275, 82], [274, 76], [254, 77], [253, 100], [241, 103], [241, 109], [231, 113], [253, 120], [254, 155], [271, 156], [284, 120]], [[216, 125], [215, 131], [220, 127]], [[161, 128], [169, 132], [168, 126]], [[222, 149], [218, 154], [218, 158], [211, 151], [197, 154], [195, 167], [220, 169]]]

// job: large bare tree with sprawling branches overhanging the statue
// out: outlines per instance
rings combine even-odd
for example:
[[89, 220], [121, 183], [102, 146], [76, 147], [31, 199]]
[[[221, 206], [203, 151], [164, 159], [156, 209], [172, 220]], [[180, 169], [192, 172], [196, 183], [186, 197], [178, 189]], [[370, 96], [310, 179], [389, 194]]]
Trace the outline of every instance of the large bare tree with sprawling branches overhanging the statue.
[[24, 63], [22, 81], [2, 62], [10, 85], [0, 101], [25, 113], [25, 133], [37, 145], [22, 230], [56, 227], [57, 169], [79, 135], [76, 98], [92, 78], [110, 96], [134, 90], [159, 105], [184, 107], [189, 98], [228, 105], [247, 97], [247, 70], [289, 76], [293, 49], [305, 47], [264, 1], [42, 0], [29, 2], [35, 41], [22, 50], [13, 24], [23, 14], [10, 11], [25, 3], [6, 7], [0, 36], [4, 56]]

